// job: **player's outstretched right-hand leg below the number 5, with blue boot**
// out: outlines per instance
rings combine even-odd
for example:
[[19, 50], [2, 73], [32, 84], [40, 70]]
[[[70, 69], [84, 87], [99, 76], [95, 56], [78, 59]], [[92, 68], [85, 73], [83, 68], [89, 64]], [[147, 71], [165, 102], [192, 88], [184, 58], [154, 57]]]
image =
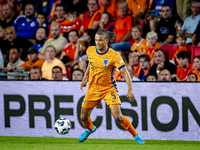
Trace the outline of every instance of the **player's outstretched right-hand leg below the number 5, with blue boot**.
[[122, 115], [120, 105], [111, 106], [110, 111], [115, 120], [117, 120], [124, 129], [133, 135], [133, 138], [137, 141], [138, 144], [145, 144], [144, 139], [136, 132], [130, 120]]

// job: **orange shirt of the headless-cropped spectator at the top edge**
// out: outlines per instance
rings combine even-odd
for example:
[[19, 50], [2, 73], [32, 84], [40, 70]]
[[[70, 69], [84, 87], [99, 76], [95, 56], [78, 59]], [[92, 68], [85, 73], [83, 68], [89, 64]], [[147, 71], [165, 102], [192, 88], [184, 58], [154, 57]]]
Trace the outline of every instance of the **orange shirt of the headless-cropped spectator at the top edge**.
[[134, 15], [140, 12], [140, 10], [148, 9], [149, 0], [128, 0], [128, 8]]

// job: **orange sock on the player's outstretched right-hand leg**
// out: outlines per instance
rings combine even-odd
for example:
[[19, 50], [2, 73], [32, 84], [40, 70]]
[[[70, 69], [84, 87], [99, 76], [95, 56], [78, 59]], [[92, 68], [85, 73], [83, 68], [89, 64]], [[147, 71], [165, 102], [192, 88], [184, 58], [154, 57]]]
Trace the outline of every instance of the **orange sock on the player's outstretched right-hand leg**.
[[120, 124], [124, 129], [130, 132], [130, 134], [132, 134], [133, 136], [136, 136], [138, 134], [127, 117], [124, 116], [124, 120], [120, 122]]

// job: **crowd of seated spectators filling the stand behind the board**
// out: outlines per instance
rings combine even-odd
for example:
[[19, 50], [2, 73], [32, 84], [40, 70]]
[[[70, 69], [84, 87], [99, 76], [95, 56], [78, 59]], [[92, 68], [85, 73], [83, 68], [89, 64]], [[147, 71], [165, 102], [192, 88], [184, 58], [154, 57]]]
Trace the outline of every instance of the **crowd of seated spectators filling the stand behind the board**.
[[99, 29], [132, 81], [200, 81], [198, 0], [1, 0], [0, 79], [82, 80]]

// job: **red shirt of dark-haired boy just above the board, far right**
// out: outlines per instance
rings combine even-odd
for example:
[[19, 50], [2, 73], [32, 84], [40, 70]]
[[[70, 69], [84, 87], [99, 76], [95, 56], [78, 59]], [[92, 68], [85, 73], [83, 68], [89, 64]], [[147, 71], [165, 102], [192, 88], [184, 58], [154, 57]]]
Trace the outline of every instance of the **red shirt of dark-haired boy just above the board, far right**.
[[186, 77], [189, 73], [193, 72], [195, 69], [193, 65], [189, 64], [188, 69], [186, 71], [183, 70], [183, 67], [178, 67], [176, 70], [176, 74], [181, 80], [186, 81]]

